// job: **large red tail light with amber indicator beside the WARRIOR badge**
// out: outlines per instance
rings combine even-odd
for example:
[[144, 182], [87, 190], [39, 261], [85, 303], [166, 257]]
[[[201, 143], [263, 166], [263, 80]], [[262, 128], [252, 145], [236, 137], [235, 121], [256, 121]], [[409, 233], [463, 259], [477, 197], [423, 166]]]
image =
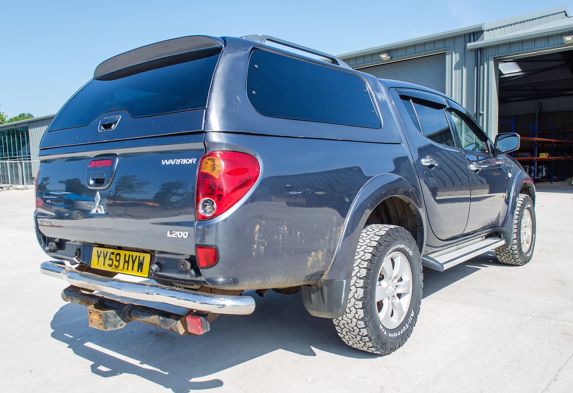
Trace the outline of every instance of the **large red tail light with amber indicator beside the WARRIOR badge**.
[[252, 155], [214, 151], [199, 162], [195, 198], [196, 219], [217, 217], [229, 210], [253, 187], [260, 166]]

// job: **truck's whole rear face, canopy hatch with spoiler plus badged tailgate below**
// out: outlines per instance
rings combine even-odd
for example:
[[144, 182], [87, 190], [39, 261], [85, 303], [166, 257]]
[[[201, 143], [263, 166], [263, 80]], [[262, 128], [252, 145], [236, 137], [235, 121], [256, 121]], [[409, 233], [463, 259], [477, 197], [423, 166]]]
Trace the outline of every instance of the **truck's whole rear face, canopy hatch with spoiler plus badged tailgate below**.
[[[40, 143], [36, 210], [42, 234], [195, 254], [195, 181], [221, 50], [211, 38], [184, 37], [121, 54], [96, 69]], [[167, 53], [176, 56], [161, 57]]]

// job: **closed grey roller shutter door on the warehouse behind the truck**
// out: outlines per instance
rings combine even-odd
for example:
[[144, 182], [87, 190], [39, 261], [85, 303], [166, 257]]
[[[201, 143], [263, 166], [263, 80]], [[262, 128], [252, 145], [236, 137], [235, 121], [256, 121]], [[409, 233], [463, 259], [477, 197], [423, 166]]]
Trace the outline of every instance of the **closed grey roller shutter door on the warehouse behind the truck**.
[[415, 83], [446, 93], [445, 53], [376, 65], [362, 68], [360, 71], [372, 74], [376, 78]]

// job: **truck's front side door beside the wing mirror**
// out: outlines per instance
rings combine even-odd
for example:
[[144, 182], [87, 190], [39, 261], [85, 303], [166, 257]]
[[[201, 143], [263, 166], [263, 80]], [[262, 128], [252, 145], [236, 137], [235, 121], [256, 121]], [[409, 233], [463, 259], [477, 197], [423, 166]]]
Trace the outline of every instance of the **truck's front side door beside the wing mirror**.
[[448, 100], [448, 118], [468, 161], [472, 197], [464, 233], [501, 226], [507, 212], [508, 177], [504, 160], [493, 155], [485, 133], [464, 108]]

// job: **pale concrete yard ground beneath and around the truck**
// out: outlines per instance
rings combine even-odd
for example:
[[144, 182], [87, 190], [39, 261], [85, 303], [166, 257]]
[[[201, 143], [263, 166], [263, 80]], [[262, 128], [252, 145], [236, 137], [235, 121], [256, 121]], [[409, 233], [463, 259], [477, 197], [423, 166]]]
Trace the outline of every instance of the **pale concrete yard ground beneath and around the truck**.
[[300, 293], [256, 297], [250, 316], [221, 316], [204, 336], [142, 323], [101, 332], [63, 281], [32, 227], [32, 190], [0, 191], [2, 391], [572, 392], [573, 186], [537, 186], [533, 260], [494, 254], [444, 273], [425, 269], [418, 323], [401, 349], [347, 347]]

